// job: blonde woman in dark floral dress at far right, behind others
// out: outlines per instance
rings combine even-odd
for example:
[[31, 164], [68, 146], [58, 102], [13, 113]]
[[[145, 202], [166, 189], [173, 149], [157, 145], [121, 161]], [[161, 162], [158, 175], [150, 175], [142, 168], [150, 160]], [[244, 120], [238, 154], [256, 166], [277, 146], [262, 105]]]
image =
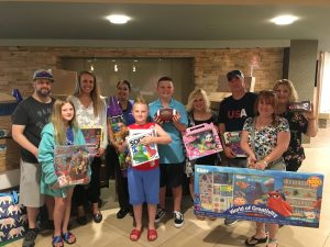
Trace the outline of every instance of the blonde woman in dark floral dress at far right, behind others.
[[277, 80], [273, 89], [278, 98], [277, 113], [288, 121], [292, 134], [289, 147], [283, 155], [286, 170], [297, 171], [305, 159], [305, 151], [301, 145], [302, 133], [309, 137], [317, 135], [316, 112], [314, 106], [308, 112], [288, 110], [289, 103], [298, 100], [298, 94], [290, 80]]

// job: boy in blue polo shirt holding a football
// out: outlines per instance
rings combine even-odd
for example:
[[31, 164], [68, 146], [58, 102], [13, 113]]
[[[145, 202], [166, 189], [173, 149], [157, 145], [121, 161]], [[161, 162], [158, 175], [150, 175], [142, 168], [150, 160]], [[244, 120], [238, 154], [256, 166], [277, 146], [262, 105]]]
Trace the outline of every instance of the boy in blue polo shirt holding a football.
[[[180, 132], [188, 125], [188, 117], [185, 106], [173, 99], [174, 85], [169, 77], [162, 77], [157, 82], [157, 92], [160, 98], [150, 103], [150, 116], [170, 135], [172, 143], [168, 145], [158, 145], [160, 168], [161, 168], [161, 189], [160, 207], [155, 222], [158, 223], [165, 215], [165, 195], [166, 187], [172, 188], [174, 199], [174, 225], [182, 227], [184, 225], [184, 215], [180, 212], [184, 182], [184, 160], [185, 154]], [[173, 119], [164, 122], [156, 113], [162, 108], [176, 110]]]

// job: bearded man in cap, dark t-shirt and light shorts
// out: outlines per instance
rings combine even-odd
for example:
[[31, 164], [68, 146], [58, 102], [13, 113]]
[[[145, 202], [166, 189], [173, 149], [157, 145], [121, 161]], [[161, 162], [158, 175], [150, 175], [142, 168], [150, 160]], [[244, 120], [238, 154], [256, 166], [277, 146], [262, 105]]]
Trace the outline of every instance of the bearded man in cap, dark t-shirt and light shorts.
[[[12, 114], [12, 137], [21, 146], [20, 203], [26, 206], [29, 229], [23, 247], [34, 246], [36, 237], [36, 217], [44, 204], [40, 192], [41, 165], [37, 162], [37, 147], [41, 132], [48, 123], [54, 99], [50, 97], [53, 75], [38, 69], [33, 75], [34, 92], [20, 102]], [[53, 200], [46, 199], [48, 217], [53, 217]]]

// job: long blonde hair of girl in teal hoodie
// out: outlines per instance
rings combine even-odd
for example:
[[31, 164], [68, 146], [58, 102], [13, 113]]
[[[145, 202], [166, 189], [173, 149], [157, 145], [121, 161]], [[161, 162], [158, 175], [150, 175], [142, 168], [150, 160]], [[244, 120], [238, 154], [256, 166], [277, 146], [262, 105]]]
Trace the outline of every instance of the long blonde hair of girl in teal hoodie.
[[78, 125], [76, 123], [76, 110], [74, 103], [66, 99], [66, 100], [56, 100], [53, 105], [53, 111], [51, 115], [51, 122], [54, 125], [54, 139], [56, 144], [65, 145], [66, 142], [66, 126], [63, 123], [62, 117], [62, 106], [66, 103], [73, 105], [75, 114], [74, 117], [68, 122], [69, 126], [74, 128], [74, 132], [78, 131]]

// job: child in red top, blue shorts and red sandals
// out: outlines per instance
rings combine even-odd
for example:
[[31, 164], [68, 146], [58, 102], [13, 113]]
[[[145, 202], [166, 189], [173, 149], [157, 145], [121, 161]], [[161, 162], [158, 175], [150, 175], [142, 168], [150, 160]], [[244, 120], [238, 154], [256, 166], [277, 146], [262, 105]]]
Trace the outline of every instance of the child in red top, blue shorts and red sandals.
[[[130, 135], [136, 130], [155, 128], [156, 136], [147, 136], [141, 139], [142, 145], [169, 144], [169, 135], [156, 123], [148, 123], [148, 106], [143, 99], [136, 99], [133, 104], [133, 117], [135, 123], [129, 126]], [[155, 229], [155, 215], [160, 201], [160, 167], [158, 159], [128, 169], [130, 203], [133, 205], [136, 226], [130, 234], [130, 239], [136, 242], [142, 232], [142, 204], [147, 203], [148, 226], [147, 240], [157, 239]]]

